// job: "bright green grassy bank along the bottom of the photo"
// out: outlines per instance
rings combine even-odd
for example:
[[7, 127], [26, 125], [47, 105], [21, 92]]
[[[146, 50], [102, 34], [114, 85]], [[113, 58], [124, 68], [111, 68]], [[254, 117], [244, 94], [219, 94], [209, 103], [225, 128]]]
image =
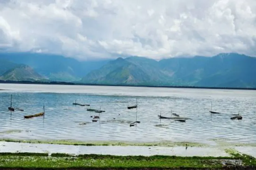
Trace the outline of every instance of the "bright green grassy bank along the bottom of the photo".
[[222, 168], [255, 167], [256, 159], [239, 153], [232, 157], [177, 157], [177, 156], [111, 156], [68, 155], [45, 153], [0, 153], [0, 168], [68, 168], [68, 169], [120, 169], [120, 168]]

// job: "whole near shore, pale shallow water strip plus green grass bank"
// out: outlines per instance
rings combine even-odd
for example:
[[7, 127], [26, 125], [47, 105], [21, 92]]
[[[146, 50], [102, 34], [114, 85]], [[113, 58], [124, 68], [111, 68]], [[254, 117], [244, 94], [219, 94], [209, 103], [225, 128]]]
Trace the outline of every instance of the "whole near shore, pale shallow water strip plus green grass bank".
[[[255, 169], [256, 147], [81, 146], [0, 142], [1, 169]], [[247, 151], [246, 151], [247, 149]]]

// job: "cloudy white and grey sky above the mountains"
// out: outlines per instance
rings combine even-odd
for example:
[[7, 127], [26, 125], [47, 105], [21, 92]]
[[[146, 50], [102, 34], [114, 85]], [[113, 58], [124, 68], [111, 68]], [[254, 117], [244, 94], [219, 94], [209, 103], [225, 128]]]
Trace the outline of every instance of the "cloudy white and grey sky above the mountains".
[[0, 50], [81, 60], [256, 55], [256, 0], [0, 0]]

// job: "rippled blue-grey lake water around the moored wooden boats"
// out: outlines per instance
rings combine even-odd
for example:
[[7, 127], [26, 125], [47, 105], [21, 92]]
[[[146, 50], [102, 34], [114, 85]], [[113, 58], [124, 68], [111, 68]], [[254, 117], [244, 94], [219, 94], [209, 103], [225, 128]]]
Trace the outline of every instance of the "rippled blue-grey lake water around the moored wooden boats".
[[[183, 89], [110, 86], [0, 84], [0, 138], [73, 139], [81, 141], [194, 141], [223, 139], [233, 142], [256, 141], [256, 91], [224, 89]], [[13, 107], [25, 111], [8, 111], [11, 94]], [[129, 124], [136, 120], [137, 126]], [[100, 121], [92, 122], [88, 106], [102, 109]], [[209, 110], [222, 114], [210, 114]], [[43, 111], [45, 117], [24, 119], [24, 115]], [[160, 119], [171, 111], [186, 122]], [[231, 114], [242, 120], [230, 120]], [[114, 119], [115, 118], [115, 119]], [[79, 125], [87, 122], [86, 125]], [[12, 133], [10, 133], [12, 132]]]

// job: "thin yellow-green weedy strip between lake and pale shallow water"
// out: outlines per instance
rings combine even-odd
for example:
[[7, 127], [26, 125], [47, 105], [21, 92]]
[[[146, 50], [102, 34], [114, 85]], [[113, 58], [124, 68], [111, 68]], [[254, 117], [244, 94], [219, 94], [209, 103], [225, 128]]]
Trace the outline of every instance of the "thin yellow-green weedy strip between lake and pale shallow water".
[[22, 142], [22, 143], [45, 143], [59, 145], [81, 145], [81, 146], [186, 146], [189, 147], [206, 147], [204, 143], [196, 142], [120, 142], [120, 141], [76, 141], [76, 140], [19, 140], [19, 139], [0, 139], [6, 142]]

